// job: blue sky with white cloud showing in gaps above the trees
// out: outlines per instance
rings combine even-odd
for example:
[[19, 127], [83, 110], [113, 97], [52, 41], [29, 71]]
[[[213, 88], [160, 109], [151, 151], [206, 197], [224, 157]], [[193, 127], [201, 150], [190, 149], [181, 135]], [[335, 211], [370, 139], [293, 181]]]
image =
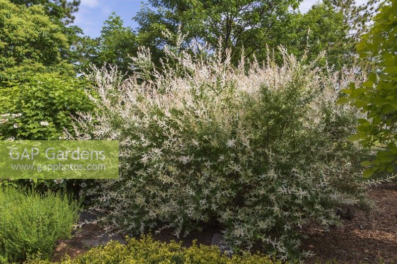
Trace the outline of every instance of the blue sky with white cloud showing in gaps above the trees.
[[[365, 0], [357, 0], [363, 3]], [[90, 37], [100, 35], [103, 22], [112, 11], [115, 11], [124, 20], [124, 24], [135, 28], [137, 24], [132, 20], [146, 0], [81, 0], [80, 8], [75, 14], [74, 24], [83, 29], [84, 34]], [[299, 9], [306, 12], [318, 0], [303, 0]]]

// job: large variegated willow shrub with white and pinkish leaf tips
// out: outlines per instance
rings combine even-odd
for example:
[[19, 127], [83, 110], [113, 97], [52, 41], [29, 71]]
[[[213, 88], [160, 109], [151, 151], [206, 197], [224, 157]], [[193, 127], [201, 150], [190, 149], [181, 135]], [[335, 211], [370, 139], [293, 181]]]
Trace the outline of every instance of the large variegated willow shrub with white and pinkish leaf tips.
[[76, 122], [74, 139], [120, 141], [120, 178], [89, 190], [110, 232], [183, 236], [217, 223], [235, 252], [255, 246], [292, 259], [305, 223], [327, 228], [338, 223], [335, 208], [364, 201], [361, 151], [346, 141], [357, 114], [335, 104], [360, 81], [352, 71], [287, 54], [281, 66], [243, 58], [233, 67], [217, 50], [166, 53], [150, 69], [142, 49], [126, 80], [94, 69], [97, 117]]

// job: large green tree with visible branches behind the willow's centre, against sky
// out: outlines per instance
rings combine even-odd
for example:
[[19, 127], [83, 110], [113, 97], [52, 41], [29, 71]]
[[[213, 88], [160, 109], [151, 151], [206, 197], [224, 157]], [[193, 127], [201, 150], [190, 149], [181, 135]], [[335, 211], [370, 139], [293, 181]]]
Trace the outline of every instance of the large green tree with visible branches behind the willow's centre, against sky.
[[240, 59], [244, 47], [248, 56], [265, 55], [265, 45], [276, 47], [286, 34], [291, 19], [290, 8], [296, 9], [299, 0], [149, 0], [157, 8], [144, 6], [135, 17], [139, 23], [138, 38], [153, 48], [170, 44], [162, 32], [169, 30], [187, 34], [187, 39], [205, 41], [220, 49], [233, 48], [231, 57]]

